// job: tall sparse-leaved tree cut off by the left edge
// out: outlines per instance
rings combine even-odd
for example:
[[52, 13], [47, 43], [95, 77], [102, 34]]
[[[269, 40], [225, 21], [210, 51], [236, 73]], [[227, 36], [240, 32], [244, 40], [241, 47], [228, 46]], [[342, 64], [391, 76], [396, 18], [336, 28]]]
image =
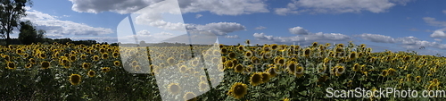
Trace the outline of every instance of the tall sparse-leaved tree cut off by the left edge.
[[32, 3], [30, 0], [1, 0], [0, 3], [0, 34], [6, 37], [6, 45], [9, 45], [12, 30], [18, 27], [21, 17], [26, 16], [27, 4]]

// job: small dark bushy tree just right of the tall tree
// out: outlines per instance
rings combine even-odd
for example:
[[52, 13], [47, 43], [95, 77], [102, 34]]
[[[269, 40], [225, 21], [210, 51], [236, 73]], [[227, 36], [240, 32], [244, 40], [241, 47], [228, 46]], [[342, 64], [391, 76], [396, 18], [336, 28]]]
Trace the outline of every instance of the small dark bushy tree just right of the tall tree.
[[30, 45], [32, 43], [42, 42], [45, 38], [45, 30], [38, 29], [32, 25], [31, 21], [21, 21], [19, 40], [21, 44]]

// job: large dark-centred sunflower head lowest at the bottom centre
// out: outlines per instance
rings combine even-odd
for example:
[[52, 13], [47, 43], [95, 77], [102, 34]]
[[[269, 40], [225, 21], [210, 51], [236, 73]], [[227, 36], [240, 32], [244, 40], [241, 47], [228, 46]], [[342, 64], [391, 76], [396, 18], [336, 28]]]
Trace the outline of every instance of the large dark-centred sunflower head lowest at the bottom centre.
[[227, 92], [227, 95], [236, 99], [240, 99], [246, 94], [248, 94], [248, 86], [242, 82], [235, 82]]

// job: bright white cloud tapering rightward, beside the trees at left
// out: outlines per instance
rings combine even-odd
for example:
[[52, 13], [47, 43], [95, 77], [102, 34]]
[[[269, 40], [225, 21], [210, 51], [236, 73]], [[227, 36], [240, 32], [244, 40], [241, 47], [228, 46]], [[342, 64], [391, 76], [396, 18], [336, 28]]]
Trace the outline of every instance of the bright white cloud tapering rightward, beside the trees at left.
[[59, 35], [105, 35], [113, 33], [112, 29], [91, 27], [84, 23], [73, 21], [58, 20], [58, 16], [48, 13], [41, 13], [36, 10], [27, 11], [28, 16], [21, 21], [31, 21], [37, 29], [46, 30], [51, 37], [60, 37]]

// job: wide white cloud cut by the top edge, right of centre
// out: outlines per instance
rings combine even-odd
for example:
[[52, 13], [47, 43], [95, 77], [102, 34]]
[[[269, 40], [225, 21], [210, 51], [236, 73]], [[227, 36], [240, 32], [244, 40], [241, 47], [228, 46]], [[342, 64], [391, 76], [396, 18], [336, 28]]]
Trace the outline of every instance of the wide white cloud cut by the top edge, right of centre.
[[405, 5], [413, 0], [293, 0], [284, 8], [277, 8], [275, 13], [285, 15], [286, 13], [384, 13], [391, 7], [401, 4]]

